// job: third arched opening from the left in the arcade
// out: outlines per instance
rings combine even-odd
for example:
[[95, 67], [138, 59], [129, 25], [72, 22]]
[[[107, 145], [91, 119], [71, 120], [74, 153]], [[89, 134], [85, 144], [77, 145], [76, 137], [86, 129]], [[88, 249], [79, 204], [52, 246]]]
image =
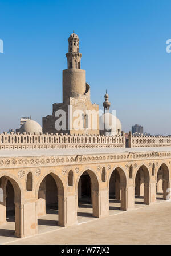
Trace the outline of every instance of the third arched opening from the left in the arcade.
[[97, 217], [99, 183], [91, 171], [84, 171], [78, 181], [78, 222], [84, 222], [85, 217]]

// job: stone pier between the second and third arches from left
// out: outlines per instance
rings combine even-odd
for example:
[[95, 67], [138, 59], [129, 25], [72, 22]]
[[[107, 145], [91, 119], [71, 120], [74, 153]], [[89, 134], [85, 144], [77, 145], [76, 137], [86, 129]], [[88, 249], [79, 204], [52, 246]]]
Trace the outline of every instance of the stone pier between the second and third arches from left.
[[77, 208], [78, 196], [77, 193], [67, 193], [66, 196], [58, 195], [58, 212], [59, 212], [59, 226], [71, 226], [78, 223]]

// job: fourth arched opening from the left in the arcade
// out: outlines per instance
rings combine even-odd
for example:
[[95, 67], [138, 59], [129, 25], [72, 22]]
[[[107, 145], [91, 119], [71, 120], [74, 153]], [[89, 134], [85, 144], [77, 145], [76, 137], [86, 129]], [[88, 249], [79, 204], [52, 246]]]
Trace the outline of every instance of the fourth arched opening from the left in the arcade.
[[126, 185], [124, 171], [120, 167], [115, 168], [109, 179], [109, 210], [125, 210]]

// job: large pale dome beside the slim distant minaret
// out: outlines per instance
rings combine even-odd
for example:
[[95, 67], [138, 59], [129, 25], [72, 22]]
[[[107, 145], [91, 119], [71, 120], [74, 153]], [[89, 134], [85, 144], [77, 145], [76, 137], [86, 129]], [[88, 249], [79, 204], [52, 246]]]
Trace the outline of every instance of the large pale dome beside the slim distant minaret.
[[100, 129], [105, 129], [108, 134], [121, 134], [122, 125], [120, 120], [109, 112], [99, 117], [99, 126]]

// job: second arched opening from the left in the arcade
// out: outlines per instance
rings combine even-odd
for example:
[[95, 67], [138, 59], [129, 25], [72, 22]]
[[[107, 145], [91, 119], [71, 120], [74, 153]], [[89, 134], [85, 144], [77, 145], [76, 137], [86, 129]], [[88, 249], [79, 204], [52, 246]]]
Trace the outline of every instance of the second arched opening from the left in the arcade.
[[41, 233], [44, 225], [63, 226], [63, 195], [62, 181], [55, 174], [48, 174], [42, 180], [38, 191], [38, 232]]

